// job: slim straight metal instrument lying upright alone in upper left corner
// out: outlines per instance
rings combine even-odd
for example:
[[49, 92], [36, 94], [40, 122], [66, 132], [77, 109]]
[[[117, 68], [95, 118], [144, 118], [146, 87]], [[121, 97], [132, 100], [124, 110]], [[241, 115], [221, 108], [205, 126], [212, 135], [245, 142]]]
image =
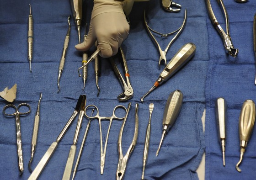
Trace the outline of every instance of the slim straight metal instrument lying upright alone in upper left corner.
[[27, 58], [29, 61], [29, 70], [31, 70], [31, 62], [33, 57], [33, 17], [32, 17], [32, 7], [29, 4], [29, 16], [28, 16], [28, 32], [27, 32]]

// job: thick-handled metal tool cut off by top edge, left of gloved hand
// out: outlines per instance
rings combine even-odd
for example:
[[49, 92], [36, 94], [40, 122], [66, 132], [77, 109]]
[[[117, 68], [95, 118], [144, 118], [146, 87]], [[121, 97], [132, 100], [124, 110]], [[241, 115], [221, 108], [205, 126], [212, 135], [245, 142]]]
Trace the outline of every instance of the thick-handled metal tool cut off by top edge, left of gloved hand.
[[80, 28], [82, 24], [82, 0], [70, 0], [71, 10], [75, 20], [75, 25], [78, 32], [78, 40], [80, 43]]

